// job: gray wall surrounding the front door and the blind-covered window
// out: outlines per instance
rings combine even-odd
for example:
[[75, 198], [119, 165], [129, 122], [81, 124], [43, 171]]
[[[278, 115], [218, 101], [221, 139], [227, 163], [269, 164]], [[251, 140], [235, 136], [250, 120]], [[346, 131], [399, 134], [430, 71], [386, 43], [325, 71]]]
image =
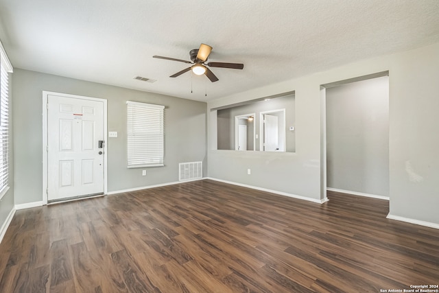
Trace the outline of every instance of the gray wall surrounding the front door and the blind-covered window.
[[[206, 173], [206, 103], [146, 93], [23, 69], [14, 70], [14, 198], [16, 204], [42, 200], [42, 91], [108, 100], [108, 192], [178, 181], [178, 163], [203, 161]], [[165, 106], [165, 167], [126, 167], [126, 101]]]

